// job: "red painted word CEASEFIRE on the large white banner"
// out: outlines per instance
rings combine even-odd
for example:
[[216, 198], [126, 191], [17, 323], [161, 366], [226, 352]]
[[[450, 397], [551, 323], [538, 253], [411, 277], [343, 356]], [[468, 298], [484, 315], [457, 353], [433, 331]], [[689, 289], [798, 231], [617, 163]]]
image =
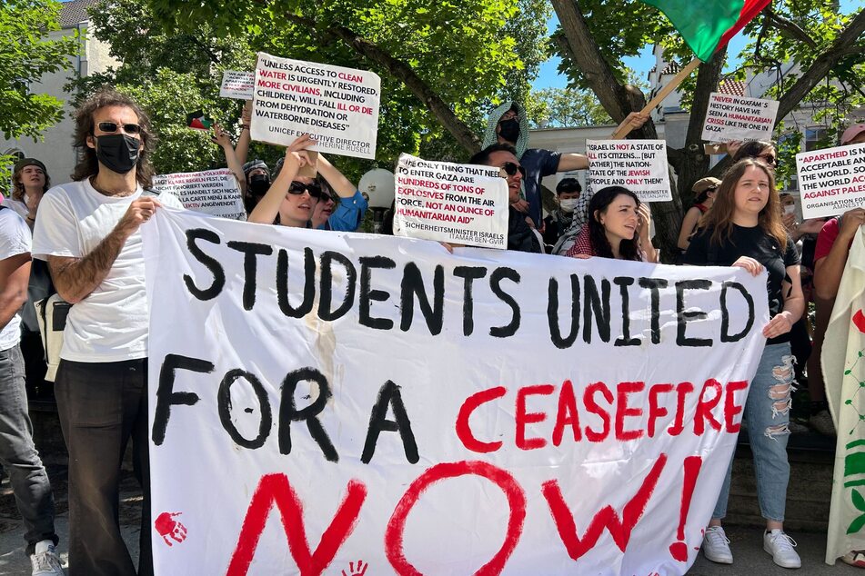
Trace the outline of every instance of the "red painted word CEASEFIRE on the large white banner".
[[[517, 389], [516, 397], [511, 401], [516, 402], [514, 442], [520, 450], [536, 450], [546, 446], [546, 438], [529, 437], [527, 428], [529, 424], [546, 422], [549, 415], [555, 417], [555, 420], [551, 421], [552, 430], [548, 431], [549, 440], [554, 446], [565, 441], [566, 432], [573, 438], [573, 442], [581, 442], [583, 439], [587, 442], [604, 442], [610, 436], [617, 441], [628, 442], [644, 436], [654, 438], [659, 433], [678, 436], [685, 432], [686, 426], [697, 436], [709, 430], [720, 432], [723, 429], [725, 432], [736, 433], [739, 432], [741, 419], [737, 420], [737, 416], [742, 412], [746, 388], [748, 382], [745, 381], [728, 382], [724, 385], [711, 378], [699, 389], [691, 382], [659, 383], [648, 387], [646, 382], [619, 382], [615, 386], [594, 382], [588, 384], [581, 394], [577, 394], [569, 380], [563, 382], [558, 391], [552, 384], [523, 386]], [[696, 399], [696, 410], [692, 411], [687, 406], [695, 393], [699, 395]], [[487, 442], [478, 439], [469, 420], [484, 404], [498, 402], [507, 395], [508, 389], [497, 386], [472, 394], [463, 402], [457, 416], [456, 429], [459, 440], [468, 450], [486, 453], [496, 452], [502, 447], [501, 441]], [[531, 397], [541, 397], [533, 401], [536, 404], [543, 402], [543, 397], [549, 397], [549, 410], [530, 412], [528, 402]], [[675, 406], [672, 405], [673, 402]], [[501, 413], [495, 405], [489, 406], [488, 410], [495, 411], [491, 413]], [[591, 416], [595, 425], [582, 425], [580, 414], [583, 417]], [[658, 423], [669, 422], [670, 416], [672, 422], [669, 426], [659, 429]], [[487, 422], [500, 422], [500, 419], [490, 418]]]

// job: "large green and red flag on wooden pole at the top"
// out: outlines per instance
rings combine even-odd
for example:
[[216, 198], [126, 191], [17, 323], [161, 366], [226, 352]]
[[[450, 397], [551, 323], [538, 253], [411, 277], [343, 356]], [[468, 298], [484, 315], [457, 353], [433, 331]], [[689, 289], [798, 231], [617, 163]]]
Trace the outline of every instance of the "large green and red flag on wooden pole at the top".
[[771, 0], [640, 0], [669, 18], [694, 54], [706, 62]]

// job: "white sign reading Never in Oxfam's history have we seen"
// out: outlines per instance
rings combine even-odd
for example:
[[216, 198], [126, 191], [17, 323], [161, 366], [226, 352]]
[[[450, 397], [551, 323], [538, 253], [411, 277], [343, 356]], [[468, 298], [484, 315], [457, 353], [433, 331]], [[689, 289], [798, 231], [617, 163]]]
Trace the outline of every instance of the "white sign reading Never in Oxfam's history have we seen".
[[777, 100], [713, 92], [701, 138], [709, 142], [771, 140], [777, 115]]

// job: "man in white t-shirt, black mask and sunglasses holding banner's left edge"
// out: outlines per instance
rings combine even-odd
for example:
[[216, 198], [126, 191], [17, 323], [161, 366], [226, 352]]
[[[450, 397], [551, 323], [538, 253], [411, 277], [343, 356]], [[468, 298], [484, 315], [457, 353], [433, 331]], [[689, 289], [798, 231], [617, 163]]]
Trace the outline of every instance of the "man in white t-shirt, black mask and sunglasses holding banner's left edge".
[[118, 523], [120, 463], [130, 437], [144, 494], [138, 574], [153, 573], [147, 430], [148, 309], [140, 226], [171, 194], [145, 192], [154, 174], [149, 118], [103, 89], [75, 112], [75, 181], [45, 194], [33, 255], [73, 306], [55, 380], [69, 452], [69, 574], [132, 576]]

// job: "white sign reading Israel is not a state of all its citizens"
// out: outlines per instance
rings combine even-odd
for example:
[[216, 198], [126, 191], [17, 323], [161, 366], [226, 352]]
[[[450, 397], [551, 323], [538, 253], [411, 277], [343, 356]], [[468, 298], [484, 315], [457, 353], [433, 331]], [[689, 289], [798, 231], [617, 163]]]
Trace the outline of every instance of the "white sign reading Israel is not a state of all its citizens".
[[588, 180], [597, 192], [624, 186], [642, 202], [672, 200], [663, 140], [587, 140]]

